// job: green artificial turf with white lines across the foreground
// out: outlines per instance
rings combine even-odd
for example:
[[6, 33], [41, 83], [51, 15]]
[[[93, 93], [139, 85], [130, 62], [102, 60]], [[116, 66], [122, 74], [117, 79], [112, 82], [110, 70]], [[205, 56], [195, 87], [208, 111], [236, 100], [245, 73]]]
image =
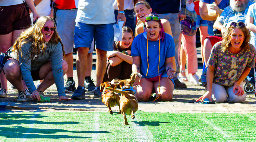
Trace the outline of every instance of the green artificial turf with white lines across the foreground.
[[255, 141], [256, 114], [0, 113], [0, 141]]

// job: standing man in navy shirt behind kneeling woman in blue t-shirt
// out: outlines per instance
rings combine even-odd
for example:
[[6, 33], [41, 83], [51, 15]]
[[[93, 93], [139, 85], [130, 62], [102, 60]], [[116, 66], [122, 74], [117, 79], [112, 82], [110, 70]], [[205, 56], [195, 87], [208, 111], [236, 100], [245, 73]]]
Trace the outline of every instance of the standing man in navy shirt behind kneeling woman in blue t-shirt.
[[171, 29], [172, 29], [172, 36], [175, 43], [175, 60], [178, 63], [177, 70], [175, 73], [175, 77], [173, 77], [175, 87], [176, 88], [187, 88], [186, 84], [180, 82], [178, 80], [177, 75], [179, 74], [179, 35], [181, 31], [181, 26], [179, 20], [184, 20], [186, 18], [186, 1], [181, 0], [181, 10], [180, 7], [180, 0], [164, 0], [164, 1], [154, 1], [154, 0], [147, 0], [150, 4], [150, 7], [156, 14], [159, 15], [161, 19], [166, 19], [170, 22]]

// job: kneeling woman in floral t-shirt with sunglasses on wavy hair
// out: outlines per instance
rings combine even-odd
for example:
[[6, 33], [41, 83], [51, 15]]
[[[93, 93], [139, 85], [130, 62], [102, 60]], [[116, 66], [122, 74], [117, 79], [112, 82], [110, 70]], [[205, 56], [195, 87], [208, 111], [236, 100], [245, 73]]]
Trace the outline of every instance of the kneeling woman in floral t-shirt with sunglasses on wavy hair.
[[207, 62], [207, 92], [197, 101], [245, 102], [242, 81], [255, 67], [255, 49], [249, 39], [244, 23], [231, 23], [223, 41], [213, 46]]

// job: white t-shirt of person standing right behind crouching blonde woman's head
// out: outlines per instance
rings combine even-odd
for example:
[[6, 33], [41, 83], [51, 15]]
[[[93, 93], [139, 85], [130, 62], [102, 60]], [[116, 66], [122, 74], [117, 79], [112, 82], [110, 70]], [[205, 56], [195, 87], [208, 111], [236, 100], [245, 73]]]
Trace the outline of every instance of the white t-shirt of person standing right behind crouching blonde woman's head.
[[[40, 16], [48, 16], [51, 14], [51, 0], [42, 0], [38, 5], [36, 5], [36, 12]], [[33, 25], [33, 13], [30, 13], [30, 18]]]

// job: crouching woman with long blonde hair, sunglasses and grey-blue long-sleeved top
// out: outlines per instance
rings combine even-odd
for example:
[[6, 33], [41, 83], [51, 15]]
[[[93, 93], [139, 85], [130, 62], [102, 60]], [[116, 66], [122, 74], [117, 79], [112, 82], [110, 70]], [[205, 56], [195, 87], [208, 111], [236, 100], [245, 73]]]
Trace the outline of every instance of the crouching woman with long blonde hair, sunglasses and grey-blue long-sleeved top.
[[[49, 16], [40, 17], [33, 27], [21, 33], [3, 69], [7, 80], [18, 89], [17, 101], [27, 101], [22, 78], [33, 99], [40, 100], [40, 95], [45, 96], [43, 91], [55, 83], [59, 101], [70, 100], [64, 92], [63, 75], [68, 65], [62, 60], [63, 52], [56, 25]], [[44, 81], [36, 89], [33, 80]]]

